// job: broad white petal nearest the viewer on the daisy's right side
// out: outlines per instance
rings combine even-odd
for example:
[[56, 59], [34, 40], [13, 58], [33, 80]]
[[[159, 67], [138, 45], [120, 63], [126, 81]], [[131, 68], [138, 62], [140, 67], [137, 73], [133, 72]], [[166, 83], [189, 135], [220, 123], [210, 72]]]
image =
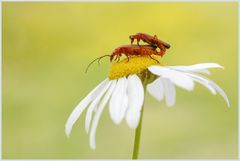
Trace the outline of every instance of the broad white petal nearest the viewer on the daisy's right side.
[[148, 68], [153, 74], [168, 78], [174, 84], [179, 87], [182, 87], [186, 90], [193, 90], [194, 82], [191, 77], [187, 76], [184, 72], [176, 71], [170, 68], [165, 68], [162, 66], [150, 66]]

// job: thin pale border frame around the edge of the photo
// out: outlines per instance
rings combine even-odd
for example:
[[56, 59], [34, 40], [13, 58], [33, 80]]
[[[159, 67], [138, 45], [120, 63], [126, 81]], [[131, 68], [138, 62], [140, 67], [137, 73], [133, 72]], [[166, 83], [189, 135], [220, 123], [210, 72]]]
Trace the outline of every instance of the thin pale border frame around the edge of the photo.
[[[0, 109], [0, 113], [1, 113], [1, 116], [0, 116], [0, 160], [3, 160], [2, 159], [2, 2], [238, 2], [238, 136], [240, 134], [240, 119], [239, 119], [239, 116], [240, 116], [240, 50], [239, 50], [239, 47], [240, 47], [240, 3], [238, 0], [149, 0], [149, 1], [146, 1], [146, 0], [4, 0], [4, 1], [0, 1], [0, 12], [1, 12], [1, 17], [0, 17], [0, 22], [1, 22], [1, 32], [0, 32], [0, 36], [1, 36], [1, 39], [0, 39], [0, 49], [1, 49], [1, 57], [0, 57], [0, 62], [1, 62], [1, 71], [0, 71], [0, 75], [1, 75], [1, 84], [0, 84], [0, 89], [1, 89], [1, 98], [0, 98], [0, 102], [1, 102], [1, 109]], [[4, 159], [4, 160], [8, 160], [8, 159]], [[15, 159], [11, 159], [12, 161], [15, 161]], [[20, 159], [19, 159], [20, 160]], [[24, 159], [21, 159], [21, 161], [24, 160]], [[30, 159], [31, 160], [31, 159]], [[35, 160], [39, 160], [39, 159], [35, 159]], [[54, 159], [54, 160], [60, 160], [60, 159]], [[61, 159], [63, 160], [63, 159]], [[69, 159], [67, 159], [69, 160]], [[80, 159], [79, 159], [80, 160]], [[109, 161], [110, 160], [113, 160], [113, 159], [108, 159]], [[141, 160], [141, 159], [140, 159]], [[160, 159], [161, 161], [177, 161], [177, 159], [172, 159], [172, 160], [169, 160], [169, 159]], [[185, 160], [185, 159], [181, 159], [181, 160]], [[193, 159], [188, 159], [188, 161], [191, 161]], [[204, 161], [214, 161], [216, 159], [212, 159], [212, 160], [205, 160], [205, 159], [197, 159], [199, 161], [201, 160], [204, 160]], [[226, 161], [227, 159], [222, 159], [222, 160], [219, 160], [219, 161]], [[231, 159], [232, 161], [234, 160], [240, 160], [240, 139], [238, 137], [238, 159]], [[51, 161], [51, 160], [42, 160], [40, 159], [39, 161]], [[70, 161], [70, 160], [69, 160]], [[76, 159], [72, 160], [72, 161], [76, 161]], [[88, 160], [88, 161], [94, 161], [94, 160]], [[121, 160], [119, 160], [121, 161]], [[126, 161], [126, 160], [122, 160], [122, 161]]]

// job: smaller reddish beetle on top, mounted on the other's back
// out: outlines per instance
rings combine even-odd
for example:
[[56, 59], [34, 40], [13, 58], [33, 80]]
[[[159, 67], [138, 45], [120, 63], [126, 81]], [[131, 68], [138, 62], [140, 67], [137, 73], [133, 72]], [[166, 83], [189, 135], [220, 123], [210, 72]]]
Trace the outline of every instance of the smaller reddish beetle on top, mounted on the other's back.
[[145, 33], [137, 33], [135, 35], [130, 35], [129, 38], [131, 39], [131, 44], [134, 42], [134, 40], [137, 40], [137, 44], [139, 45], [140, 40], [143, 42], [148, 43], [152, 46], [157, 46], [159, 49], [161, 49], [161, 55], [164, 55], [166, 52], [166, 49], [170, 48], [170, 45], [166, 42], [163, 42], [162, 40], [159, 40], [156, 35], [151, 36]]

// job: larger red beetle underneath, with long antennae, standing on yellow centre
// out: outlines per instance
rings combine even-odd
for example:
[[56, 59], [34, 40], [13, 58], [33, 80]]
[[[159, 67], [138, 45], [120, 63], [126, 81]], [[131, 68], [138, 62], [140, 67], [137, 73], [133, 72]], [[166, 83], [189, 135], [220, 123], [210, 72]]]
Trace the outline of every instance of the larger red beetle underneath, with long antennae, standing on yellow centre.
[[[123, 45], [120, 46], [118, 48], [116, 48], [111, 55], [103, 55], [100, 56], [96, 59], [94, 59], [92, 62], [89, 63], [89, 65], [87, 66], [85, 72], [88, 71], [88, 68], [95, 62], [98, 60], [99, 61], [104, 58], [104, 57], [110, 57], [110, 62], [112, 62], [113, 60], [119, 62], [120, 58], [122, 56], [122, 54], [124, 54], [128, 61], [129, 61], [129, 57], [130, 56], [145, 56], [148, 55], [151, 59], [154, 59], [151, 55], [158, 55], [158, 56], [163, 56], [161, 52], [158, 52], [156, 50], [156, 46], [153, 45]], [[156, 62], [158, 62], [158, 60], [154, 59]]]

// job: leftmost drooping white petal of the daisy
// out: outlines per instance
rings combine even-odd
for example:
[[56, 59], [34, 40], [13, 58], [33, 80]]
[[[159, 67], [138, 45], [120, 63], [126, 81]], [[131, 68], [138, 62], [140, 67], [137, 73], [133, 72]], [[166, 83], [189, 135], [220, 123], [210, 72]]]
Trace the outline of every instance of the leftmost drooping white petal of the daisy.
[[65, 125], [65, 133], [67, 137], [69, 137], [72, 126], [77, 121], [77, 119], [80, 117], [81, 113], [86, 109], [88, 104], [96, 97], [96, 95], [99, 93], [99, 91], [102, 90], [102, 88], [108, 83], [109, 80], [105, 79], [102, 81], [97, 87], [95, 87], [72, 111], [70, 114], [66, 125]]

